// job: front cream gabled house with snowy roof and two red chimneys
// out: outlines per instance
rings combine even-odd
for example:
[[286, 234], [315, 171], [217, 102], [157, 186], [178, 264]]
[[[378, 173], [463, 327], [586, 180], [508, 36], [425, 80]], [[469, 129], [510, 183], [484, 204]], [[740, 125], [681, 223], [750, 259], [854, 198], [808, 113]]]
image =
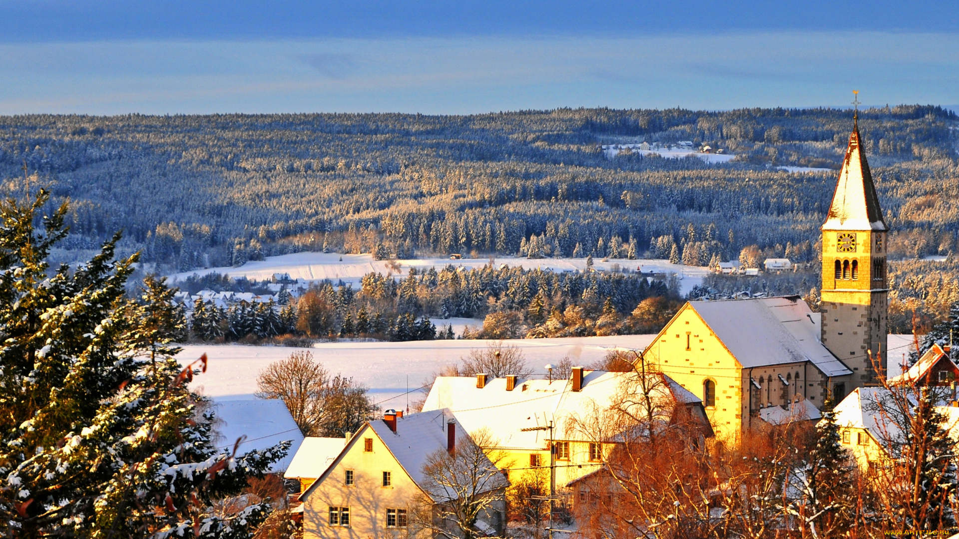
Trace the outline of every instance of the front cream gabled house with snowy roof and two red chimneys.
[[[433, 531], [417, 527], [412, 512], [423, 504], [448, 504], [424, 466], [437, 452], [455, 452], [468, 443], [450, 410], [404, 415], [386, 410], [383, 419], [369, 421], [350, 436], [339, 454], [303, 494], [303, 537], [427, 537]], [[502, 495], [508, 481], [488, 459], [479, 463], [494, 480], [480, 494]], [[492, 502], [480, 513], [479, 533], [503, 533], [505, 502]], [[456, 537], [451, 527], [446, 533]]]

